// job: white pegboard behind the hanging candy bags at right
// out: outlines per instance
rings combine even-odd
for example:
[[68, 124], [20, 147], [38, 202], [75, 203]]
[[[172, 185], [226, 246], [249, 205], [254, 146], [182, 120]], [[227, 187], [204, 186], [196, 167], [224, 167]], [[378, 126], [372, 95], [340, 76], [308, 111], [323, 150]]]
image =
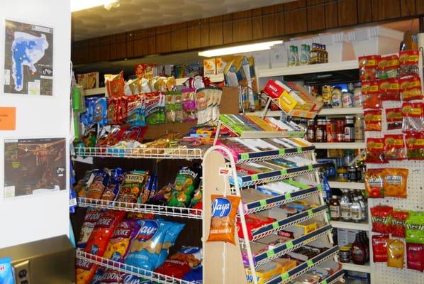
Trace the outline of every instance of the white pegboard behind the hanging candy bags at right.
[[[402, 133], [401, 129], [388, 130], [386, 124], [386, 111], [388, 108], [401, 107], [401, 102], [383, 102], [382, 109], [382, 131], [366, 131], [365, 137], [383, 137], [384, 134], [398, 134]], [[406, 210], [424, 211], [424, 161], [417, 160], [391, 160], [389, 164], [367, 164], [367, 168], [407, 168], [408, 181], [407, 181], [407, 194], [408, 198], [385, 197], [383, 198], [369, 198], [369, 208], [378, 204], [386, 204], [391, 207]], [[371, 216], [371, 214], [369, 214]], [[371, 224], [371, 218], [369, 217]], [[371, 234], [378, 234], [373, 233]], [[371, 238], [369, 238], [371, 239]], [[403, 239], [405, 242], [405, 240]], [[406, 244], [406, 243], [405, 243]], [[406, 253], [404, 258], [404, 268], [387, 267], [386, 263], [374, 263], [372, 261], [372, 249], [370, 246], [370, 266], [371, 266], [371, 283], [372, 284], [422, 284], [424, 283], [424, 273], [420, 271], [413, 271], [406, 268]]]

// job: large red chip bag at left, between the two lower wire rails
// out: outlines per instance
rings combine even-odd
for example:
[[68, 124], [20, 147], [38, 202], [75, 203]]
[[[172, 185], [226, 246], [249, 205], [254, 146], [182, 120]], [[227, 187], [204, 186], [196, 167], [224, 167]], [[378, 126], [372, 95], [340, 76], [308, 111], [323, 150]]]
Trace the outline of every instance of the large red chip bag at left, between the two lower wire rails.
[[93, 231], [87, 241], [85, 251], [87, 253], [95, 254], [96, 256], [103, 256], [109, 239], [113, 234], [116, 226], [125, 215], [124, 211], [106, 210], [101, 213], [101, 217], [96, 222]]

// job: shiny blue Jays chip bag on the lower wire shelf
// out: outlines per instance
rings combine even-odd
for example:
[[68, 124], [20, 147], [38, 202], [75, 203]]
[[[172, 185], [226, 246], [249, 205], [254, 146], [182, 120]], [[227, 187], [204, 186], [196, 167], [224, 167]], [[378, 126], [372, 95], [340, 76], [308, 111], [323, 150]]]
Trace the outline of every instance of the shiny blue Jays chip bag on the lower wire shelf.
[[140, 220], [140, 230], [130, 246], [125, 264], [152, 271], [157, 267], [164, 237], [171, 226], [160, 220]]

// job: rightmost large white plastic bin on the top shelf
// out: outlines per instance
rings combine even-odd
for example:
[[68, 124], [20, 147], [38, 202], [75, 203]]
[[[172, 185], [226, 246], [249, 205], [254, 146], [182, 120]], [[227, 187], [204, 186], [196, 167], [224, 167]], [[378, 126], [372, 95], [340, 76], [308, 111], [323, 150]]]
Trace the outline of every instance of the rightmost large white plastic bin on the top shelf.
[[355, 31], [347, 33], [347, 37], [353, 45], [355, 56], [363, 55], [386, 55], [397, 53], [403, 40], [403, 33], [376, 26], [372, 28], [355, 28]]

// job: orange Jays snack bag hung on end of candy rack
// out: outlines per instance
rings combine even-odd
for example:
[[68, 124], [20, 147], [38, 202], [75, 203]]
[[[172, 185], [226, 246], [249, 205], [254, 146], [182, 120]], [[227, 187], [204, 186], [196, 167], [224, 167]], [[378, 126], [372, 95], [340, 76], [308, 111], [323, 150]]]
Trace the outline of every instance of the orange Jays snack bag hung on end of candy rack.
[[211, 195], [211, 227], [207, 241], [235, 244], [235, 214], [240, 197]]

